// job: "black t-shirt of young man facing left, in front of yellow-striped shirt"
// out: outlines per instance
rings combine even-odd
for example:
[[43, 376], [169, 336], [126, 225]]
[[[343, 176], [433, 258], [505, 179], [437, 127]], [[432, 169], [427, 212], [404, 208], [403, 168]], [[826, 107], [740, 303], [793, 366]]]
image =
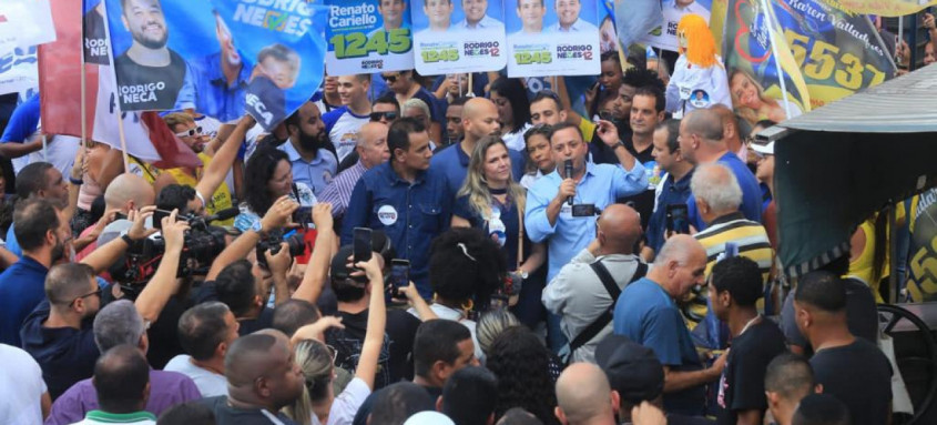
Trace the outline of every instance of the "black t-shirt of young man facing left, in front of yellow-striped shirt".
[[774, 322], [760, 318], [732, 340], [732, 348], [720, 378], [719, 423], [735, 425], [739, 411], [767, 409], [764, 375], [767, 364], [787, 350], [784, 334]]

